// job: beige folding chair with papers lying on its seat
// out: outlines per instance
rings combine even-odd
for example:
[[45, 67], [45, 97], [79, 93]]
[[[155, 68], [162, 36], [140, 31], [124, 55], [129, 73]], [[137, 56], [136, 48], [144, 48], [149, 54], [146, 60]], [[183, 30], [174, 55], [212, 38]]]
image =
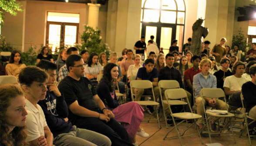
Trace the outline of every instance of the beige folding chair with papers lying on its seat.
[[[207, 98], [221, 98], [221, 97], [225, 97], [225, 96], [226, 96], [226, 95], [225, 95], [224, 91], [223, 91], [222, 89], [220, 89], [220, 88], [203, 88], [203, 89], [201, 90], [201, 98], [202, 98], [202, 103], [203, 103], [203, 105], [204, 105], [203, 97], [207, 97]], [[226, 102], [226, 98], [224, 98], [224, 100], [225, 100], [225, 104], [226, 104], [226, 110], [229, 111], [229, 110], [228, 110], [228, 106], [227, 106], [227, 102]], [[236, 143], [236, 139], [235, 139], [234, 132], [233, 132], [233, 128], [232, 128], [232, 124], [231, 124], [231, 118], [234, 117], [235, 115], [232, 114], [232, 113], [228, 113], [227, 115], [215, 115], [215, 114], [212, 113], [212, 112], [205, 111], [205, 106], [203, 106], [203, 107], [204, 107], [204, 112], [205, 112], [206, 126], [207, 126], [208, 133], [209, 133], [209, 137], [210, 137], [210, 143], [212, 143], [211, 135], [230, 134], [230, 133], [222, 133], [222, 131], [223, 131], [228, 125], [230, 125], [230, 127], [231, 127], [231, 131], [232, 131], [233, 138], [234, 138], [234, 143]], [[225, 118], [228, 118], [229, 121], [228, 121], [228, 123], [226, 123], [226, 124], [223, 126], [222, 130], [221, 130], [219, 133], [210, 133], [209, 124], [208, 124], [208, 123], [210, 123], [210, 122], [212, 121], [212, 119], [214, 119], [214, 118], [212, 118], [212, 119], [209, 120], [209, 122], [208, 122], [208, 120], [207, 120], [207, 119], [208, 119], [208, 118], [207, 118], [207, 115], [209, 115], [209, 116], [214, 116], [214, 117], [225, 117]], [[204, 128], [205, 128], [205, 126], [204, 126]]]

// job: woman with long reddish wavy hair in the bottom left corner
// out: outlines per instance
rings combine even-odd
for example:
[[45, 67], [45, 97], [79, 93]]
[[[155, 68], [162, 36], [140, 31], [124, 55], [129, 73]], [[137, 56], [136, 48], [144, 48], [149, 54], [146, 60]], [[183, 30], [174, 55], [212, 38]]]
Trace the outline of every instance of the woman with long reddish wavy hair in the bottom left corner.
[[26, 138], [26, 99], [16, 85], [0, 88], [0, 146], [29, 146]]

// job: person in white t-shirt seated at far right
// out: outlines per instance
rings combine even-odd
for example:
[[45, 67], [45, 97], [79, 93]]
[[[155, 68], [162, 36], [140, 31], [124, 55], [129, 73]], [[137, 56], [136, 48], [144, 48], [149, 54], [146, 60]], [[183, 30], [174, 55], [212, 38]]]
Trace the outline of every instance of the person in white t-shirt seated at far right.
[[233, 66], [234, 75], [228, 76], [224, 81], [225, 94], [229, 96], [229, 106], [241, 107], [241, 90], [244, 83], [250, 81], [243, 77], [245, 64], [241, 61], [237, 61]]

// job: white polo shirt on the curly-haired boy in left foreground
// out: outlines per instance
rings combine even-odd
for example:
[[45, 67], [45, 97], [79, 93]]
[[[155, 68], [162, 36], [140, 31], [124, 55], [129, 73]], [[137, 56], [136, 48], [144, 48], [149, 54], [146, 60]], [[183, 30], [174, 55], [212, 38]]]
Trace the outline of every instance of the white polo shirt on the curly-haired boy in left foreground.
[[27, 102], [27, 142], [35, 140], [40, 136], [44, 136], [44, 127], [47, 126], [44, 111], [41, 106], [37, 104], [37, 108], [30, 103]]

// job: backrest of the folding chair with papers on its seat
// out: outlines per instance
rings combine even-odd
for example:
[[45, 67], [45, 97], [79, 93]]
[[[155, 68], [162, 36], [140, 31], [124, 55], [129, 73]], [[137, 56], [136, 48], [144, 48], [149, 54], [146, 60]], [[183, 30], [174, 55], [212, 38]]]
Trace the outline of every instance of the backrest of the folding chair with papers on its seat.
[[201, 90], [201, 96], [207, 98], [225, 98], [225, 93], [220, 88], [203, 88]]

